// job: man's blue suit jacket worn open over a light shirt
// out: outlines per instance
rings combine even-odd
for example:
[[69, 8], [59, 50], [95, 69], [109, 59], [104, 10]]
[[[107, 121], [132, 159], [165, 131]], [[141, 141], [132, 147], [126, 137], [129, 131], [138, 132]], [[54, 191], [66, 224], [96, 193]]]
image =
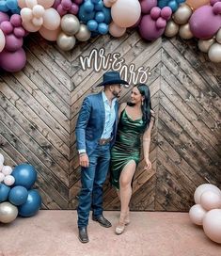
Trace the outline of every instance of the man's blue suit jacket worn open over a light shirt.
[[[116, 120], [113, 125], [111, 146], [114, 144], [118, 126], [118, 102], [115, 104]], [[102, 92], [88, 95], [79, 112], [75, 133], [77, 150], [86, 150], [90, 155], [97, 147], [103, 134], [105, 109]]]

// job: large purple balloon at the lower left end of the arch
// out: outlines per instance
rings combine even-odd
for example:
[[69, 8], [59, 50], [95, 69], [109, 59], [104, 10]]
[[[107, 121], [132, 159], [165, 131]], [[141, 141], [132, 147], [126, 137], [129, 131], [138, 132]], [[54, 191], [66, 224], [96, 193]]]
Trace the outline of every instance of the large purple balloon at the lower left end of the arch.
[[24, 68], [26, 55], [23, 48], [16, 52], [3, 50], [0, 53], [0, 66], [7, 72], [19, 72]]

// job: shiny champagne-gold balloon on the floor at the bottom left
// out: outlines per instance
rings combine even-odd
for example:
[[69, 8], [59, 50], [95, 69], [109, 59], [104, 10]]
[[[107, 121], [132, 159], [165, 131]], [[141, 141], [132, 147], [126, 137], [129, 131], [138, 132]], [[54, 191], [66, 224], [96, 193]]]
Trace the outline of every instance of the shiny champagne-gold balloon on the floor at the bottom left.
[[18, 216], [18, 208], [8, 201], [0, 203], [0, 222], [12, 222]]

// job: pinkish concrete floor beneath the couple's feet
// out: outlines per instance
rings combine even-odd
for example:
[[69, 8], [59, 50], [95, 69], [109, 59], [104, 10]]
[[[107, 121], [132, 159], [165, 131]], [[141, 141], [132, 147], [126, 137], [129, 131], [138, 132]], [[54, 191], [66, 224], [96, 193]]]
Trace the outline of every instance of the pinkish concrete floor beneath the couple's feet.
[[106, 229], [89, 220], [89, 243], [77, 238], [75, 211], [39, 211], [0, 224], [0, 256], [219, 256], [221, 245], [206, 237], [185, 213], [133, 212], [131, 224], [114, 233], [118, 212], [104, 212]]

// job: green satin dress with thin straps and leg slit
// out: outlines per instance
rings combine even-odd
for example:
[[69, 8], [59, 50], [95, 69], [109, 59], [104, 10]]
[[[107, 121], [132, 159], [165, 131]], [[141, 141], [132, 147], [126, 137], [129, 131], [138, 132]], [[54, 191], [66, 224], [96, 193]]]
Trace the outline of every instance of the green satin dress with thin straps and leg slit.
[[124, 109], [118, 122], [116, 142], [111, 149], [110, 179], [111, 184], [119, 189], [119, 176], [122, 169], [131, 160], [136, 165], [140, 160], [141, 136], [145, 131], [142, 119], [132, 120]]

